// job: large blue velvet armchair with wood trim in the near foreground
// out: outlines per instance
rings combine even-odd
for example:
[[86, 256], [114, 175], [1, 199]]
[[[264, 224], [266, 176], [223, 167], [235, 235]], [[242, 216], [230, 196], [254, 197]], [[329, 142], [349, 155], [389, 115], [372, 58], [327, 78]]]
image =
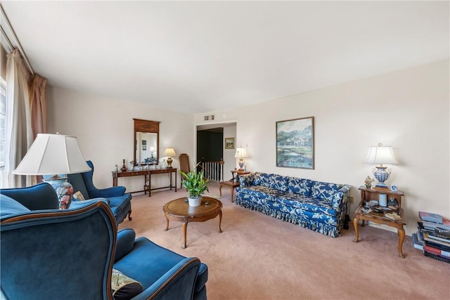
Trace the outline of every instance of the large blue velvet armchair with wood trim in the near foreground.
[[105, 200], [57, 208], [48, 183], [0, 190], [1, 299], [115, 299], [113, 269], [141, 283], [134, 300], [206, 299], [204, 263], [117, 232]]

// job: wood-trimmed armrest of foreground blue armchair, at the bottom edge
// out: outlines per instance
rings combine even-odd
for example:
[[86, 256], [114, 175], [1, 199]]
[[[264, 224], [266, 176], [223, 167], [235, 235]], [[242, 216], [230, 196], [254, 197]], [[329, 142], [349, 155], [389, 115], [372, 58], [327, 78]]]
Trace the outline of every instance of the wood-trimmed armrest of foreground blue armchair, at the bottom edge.
[[133, 299], [193, 299], [199, 268], [198, 258], [183, 259]]

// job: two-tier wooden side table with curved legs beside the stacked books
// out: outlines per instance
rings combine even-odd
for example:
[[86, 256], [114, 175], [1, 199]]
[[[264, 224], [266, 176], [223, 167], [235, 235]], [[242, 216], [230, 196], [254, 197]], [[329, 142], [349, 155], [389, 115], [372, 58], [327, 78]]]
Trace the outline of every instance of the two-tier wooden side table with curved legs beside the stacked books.
[[[399, 235], [399, 256], [404, 259], [405, 256], [402, 252], [403, 242], [405, 240], [405, 230], [403, 228], [404, 225], [406, 225], [406, 220], [404, 217], [404, 211], [401, 208], [401, 196], [404, 195], [403, 191], [392, 191], [392, 190], [382, 190], [382, 189], [373, 189], [373, 188], [365, 188], [364, 186], [361, 186], [359, 188], [361, 190], [361, 202], [359, 203], [359, 206], [356, 207], [354, 211], [354, 220], [353, 220], [353, 226], [354, 226], [354, 232], [355, 237], [353, 242], [358, 242], [359, 240], [359, 230], [358, 230], [358, 223], [359, 220], [362, 220], [362, 226], [364, 227], [365, 221], [371, 221], [373, 223], [378, 224], [385, 224], [390, 227], [397, 228], [397, 234]], [[364, 210], [364, 207], [366, 206], [366, 202], [369, 202], [371, 200], [378, 200], [378, 197], [380, 194], [387, 195], [388, 199], [394, 199], [397, 200], [397, 203], [399, 204], [399, 208], [397, 209], [397, 214], [401, 217], [400, 220], [392, 220], [387, 218], [385, 216], [385, 213], [392, 213], [392, 210], [385, 210], [383, 213], [377, 213], [375, 211], [366, 212]]]

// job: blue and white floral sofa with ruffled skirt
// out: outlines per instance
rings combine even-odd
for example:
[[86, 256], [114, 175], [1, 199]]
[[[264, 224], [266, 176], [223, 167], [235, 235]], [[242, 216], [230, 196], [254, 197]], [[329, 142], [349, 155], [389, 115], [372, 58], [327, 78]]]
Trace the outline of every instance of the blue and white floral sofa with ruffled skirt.
[[304, 228], [340, 236], [350, 185], [255, 172], [239, 176], [235, 203]]

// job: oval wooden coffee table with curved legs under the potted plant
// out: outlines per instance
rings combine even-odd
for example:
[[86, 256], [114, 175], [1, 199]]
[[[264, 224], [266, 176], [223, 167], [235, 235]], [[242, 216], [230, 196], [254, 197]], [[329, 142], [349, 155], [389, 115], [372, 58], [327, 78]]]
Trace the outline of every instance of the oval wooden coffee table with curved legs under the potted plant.
[[222, 202], [212, 197], [203, 197], [200, 206], [190, 207], [185, 201], [186, 197], [167, 202], [162, 210], [166, 217], [166, 229], [169, 230], [169, 220], [183, 223], [184, 245], [186, 248], [186, 231], [189, 222], [204, 222], [214, 219], [219, 215], [219, 233], [222, 232], [220, 225], [222, 221]]

